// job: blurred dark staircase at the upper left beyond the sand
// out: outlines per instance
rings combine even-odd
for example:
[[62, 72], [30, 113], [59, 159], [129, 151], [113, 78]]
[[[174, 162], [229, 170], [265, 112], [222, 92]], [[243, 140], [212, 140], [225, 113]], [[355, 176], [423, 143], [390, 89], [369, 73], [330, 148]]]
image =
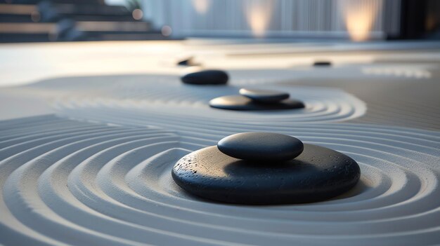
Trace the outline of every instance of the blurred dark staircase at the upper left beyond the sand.
[[99, 0], [0, 0], [0, 43], [167, 39], [142, 11]]

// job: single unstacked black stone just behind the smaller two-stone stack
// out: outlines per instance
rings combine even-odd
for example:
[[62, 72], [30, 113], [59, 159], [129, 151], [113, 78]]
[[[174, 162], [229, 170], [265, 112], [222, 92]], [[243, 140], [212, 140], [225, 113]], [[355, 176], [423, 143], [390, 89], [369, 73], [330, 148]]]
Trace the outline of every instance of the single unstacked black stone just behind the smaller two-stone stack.
[[228, 74], [221, 70], [195, 71], [181, 77], [183, 83], [192, 85], [224, 85], [228, 79]]

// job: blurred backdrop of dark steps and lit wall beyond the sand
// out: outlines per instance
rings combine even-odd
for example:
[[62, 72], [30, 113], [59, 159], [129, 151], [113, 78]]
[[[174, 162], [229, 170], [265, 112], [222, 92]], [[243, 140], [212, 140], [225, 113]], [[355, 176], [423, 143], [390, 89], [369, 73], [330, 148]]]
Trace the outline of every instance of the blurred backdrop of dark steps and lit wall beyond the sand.
[[0, 42], [439, 39], [436, 0], [0, 0]]

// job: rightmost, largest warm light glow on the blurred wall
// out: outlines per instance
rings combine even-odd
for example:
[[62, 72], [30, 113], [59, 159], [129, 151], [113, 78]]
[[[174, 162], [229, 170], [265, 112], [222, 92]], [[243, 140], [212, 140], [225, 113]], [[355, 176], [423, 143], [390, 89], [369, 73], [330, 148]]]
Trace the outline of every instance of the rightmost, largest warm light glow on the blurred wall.
[[342, 0], [340, 4], [344, 11], [344, 21], [351, 40], [367, 40], [373, 28], [377, 8], [382, 4], [382, 1], [370, 0], [368, 4], [365, 4], [364, 1]]

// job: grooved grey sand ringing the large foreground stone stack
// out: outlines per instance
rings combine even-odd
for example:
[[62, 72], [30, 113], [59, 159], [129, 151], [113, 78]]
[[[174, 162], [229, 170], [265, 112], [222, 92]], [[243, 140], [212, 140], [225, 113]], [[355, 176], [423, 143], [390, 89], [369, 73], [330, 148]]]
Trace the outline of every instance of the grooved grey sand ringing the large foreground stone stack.
[[[90, 114], [93, 112], [90, 111]], [[109, 114], [103, 111], [100, 117]], [[147, 116], [145, 116], [147, 117]], [[429, 245], [440, 242], [440, 133], [362, 124], [210, 124], [120, 116], [1, 121], [5, 245]], [[110, 121], [112, 120], [112, 121]], [[124, 126], [122, 126], [124, 125]], [[160, 127], [158, 127], [160, 126]], [[181, 156], [231, 133], [294, 135], [354, 158], [358, 185], [323, 203], [237, 206], [184, 193]]]

